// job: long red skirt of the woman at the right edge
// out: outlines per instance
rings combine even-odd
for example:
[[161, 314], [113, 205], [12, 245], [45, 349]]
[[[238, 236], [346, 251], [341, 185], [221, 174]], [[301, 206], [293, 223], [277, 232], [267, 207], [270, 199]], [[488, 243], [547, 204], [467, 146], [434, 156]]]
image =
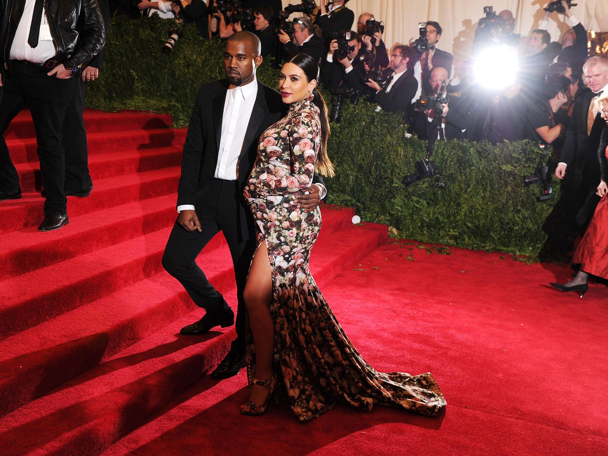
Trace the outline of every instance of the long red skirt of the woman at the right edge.
[[[606, 148], [608, 159], [608, 148]], [[581, 271], [598, 277], [608, 278], [608, 202], [602, 196], [598, 207], [595, 208], [593, 218], [582, 237], [581, 243], [576, 247], [573, 263], [581, 264]]]

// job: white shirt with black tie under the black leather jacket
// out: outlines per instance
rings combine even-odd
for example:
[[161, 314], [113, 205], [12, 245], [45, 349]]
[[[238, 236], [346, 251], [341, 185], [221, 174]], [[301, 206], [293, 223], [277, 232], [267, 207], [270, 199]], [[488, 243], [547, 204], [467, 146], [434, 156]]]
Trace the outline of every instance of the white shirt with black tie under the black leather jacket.
[[32, 28], [32, 17], [34, 15], [35, 0], [26, 0], [23, 14], [17, 30], [15, 39], [10, 46], [10, 58], [13, 60], [27, 60], [32, 63], [44, 63], [57, 54], [55, 43], [50, 35], [49, 24], [46, 23], [46, 11], [43, 10], [40, 33], [38, 35], [38, 46], [32, 47], [27, 43]]

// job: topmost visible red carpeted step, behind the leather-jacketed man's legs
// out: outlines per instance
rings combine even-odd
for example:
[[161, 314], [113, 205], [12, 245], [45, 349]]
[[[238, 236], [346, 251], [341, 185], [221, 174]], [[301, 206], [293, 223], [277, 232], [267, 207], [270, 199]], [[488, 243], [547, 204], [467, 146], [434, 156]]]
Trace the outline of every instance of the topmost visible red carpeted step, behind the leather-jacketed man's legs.
[[[149, 130], [169, 128], [169, 114], [154, 114], [140, 111], [103, 112], [85, 109], [85, 128], [88, 134], [119, 130]], [[36, 137], [29, 109], [19, 112], [4, 133], [4, 139], [25, 139]]]

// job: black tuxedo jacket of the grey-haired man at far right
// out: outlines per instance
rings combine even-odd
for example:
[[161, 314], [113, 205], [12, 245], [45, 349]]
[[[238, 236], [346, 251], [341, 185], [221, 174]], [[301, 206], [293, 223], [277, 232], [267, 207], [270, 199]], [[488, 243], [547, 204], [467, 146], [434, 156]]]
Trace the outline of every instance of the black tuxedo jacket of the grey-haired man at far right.
[[559, 161], [567, 165], [566, 174], [571, 174], [572, 182], [577, 189], [584, 184], [589, 185], [591, 190], [599, 183], [596, 151], [606, 123], [598, 113], [591, 134], [587, 134], [587, 116], [593, 96], [593, 92], [584, 92], [576, 98], [572, 120], [566, 130], [564, 147], [559, 157]]

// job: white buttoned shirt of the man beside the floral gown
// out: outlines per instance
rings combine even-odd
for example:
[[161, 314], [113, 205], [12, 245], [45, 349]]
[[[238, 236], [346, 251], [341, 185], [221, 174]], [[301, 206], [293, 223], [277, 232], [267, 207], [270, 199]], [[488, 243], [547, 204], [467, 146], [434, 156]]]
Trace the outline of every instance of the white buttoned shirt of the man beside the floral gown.
[[226, 93], [218, 164], [215, 168], [217, 179], [236, 181], [238, 178], [238, 159], [243, 150], [243, 141], [257, 94], [256, 78], [249, 84], [229, 89]]

